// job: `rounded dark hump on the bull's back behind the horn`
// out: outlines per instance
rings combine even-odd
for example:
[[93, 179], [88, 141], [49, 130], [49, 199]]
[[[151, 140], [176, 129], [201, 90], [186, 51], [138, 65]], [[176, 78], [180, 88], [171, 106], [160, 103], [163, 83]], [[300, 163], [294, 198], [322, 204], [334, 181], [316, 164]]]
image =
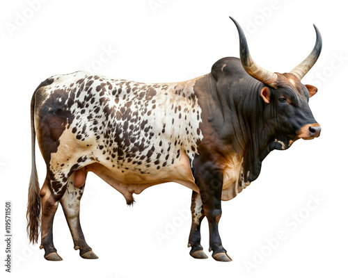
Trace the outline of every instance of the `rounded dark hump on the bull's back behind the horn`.
[[212, 66], [212, 75], [216, 80], [223, 76], [246, 74], [239, 58], [225, 57], [216, 61]]

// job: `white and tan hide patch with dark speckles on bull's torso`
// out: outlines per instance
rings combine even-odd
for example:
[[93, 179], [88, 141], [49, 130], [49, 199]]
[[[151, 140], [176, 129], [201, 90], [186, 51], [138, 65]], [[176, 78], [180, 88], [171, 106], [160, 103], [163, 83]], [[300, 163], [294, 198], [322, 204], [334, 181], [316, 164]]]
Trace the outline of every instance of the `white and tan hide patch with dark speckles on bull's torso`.
[[46, 99], [65, 90], [67, 95], [58, 100], [74, 115], [51, 156], [50, 170], [57, 181], [73, 165], [97, 161], [121, 186], [174, 179], [196, 188], [189, 161], [203, 139], [202, 110], [193, 92], [200, 77], [180, 83], [137, 83], [75, 72], [53, 79], [45, 87]]

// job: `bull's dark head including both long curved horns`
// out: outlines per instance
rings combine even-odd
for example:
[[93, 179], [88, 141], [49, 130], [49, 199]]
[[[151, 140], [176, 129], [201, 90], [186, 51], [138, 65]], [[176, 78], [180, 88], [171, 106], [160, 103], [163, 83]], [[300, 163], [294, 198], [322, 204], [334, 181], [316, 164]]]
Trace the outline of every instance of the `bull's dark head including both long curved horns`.
[[280, 74], [264, 70], [253, 61], [242, 28], [235, 19], [232, 21], [239, 33], [240, 59], [244, 70], [263, 83], [260, 98], [266, 103], [264, 113], [269, 120], [268, 124], [277, 122], [276, 133], [282, 138], [277, 149], [287, 149], [299, 138], [308, 140], [318, 137], [321, 127], [308, 106], [308, 100], [315, 95], [317, 88], [301, 83], [301, 79], [313, 67], [322, 50], [322, 37], [317, 27], [314, 26], [317, 41], [310, 55], [291, 72]]

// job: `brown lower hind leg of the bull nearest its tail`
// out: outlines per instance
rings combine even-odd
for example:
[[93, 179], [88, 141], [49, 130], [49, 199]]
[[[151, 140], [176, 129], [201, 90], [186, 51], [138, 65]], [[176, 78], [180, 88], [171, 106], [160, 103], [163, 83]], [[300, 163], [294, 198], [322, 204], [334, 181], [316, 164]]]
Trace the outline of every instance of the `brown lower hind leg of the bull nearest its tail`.
[[61, 190], [54, 193], [52, 190], [52, 180], [47, 176], [45, 183], [40, 190], [40, 200], [42, 207], [41, 214], [41, 245], [40, 249], [45, 250], [45, 259], [48, 261], [61, 261], [62, 258], [57, 254], [53, 244], [53, 220], [56, 214], [59, 200], [65, 192], [66, 186], [61, 186]]

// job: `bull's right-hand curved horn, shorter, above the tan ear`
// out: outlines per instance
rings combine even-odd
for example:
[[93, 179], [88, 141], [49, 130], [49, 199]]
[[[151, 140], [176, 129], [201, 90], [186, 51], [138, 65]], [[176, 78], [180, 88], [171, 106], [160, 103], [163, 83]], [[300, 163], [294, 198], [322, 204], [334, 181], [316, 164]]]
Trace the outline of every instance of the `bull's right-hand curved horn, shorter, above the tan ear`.
[[315, 46], [308, 57], [290, 72], [294, 74], [299, 80], [301, 80], [303, 76], [305, 76], [306, 73], [310, 70], [310, 68], [313, 67], [315, 62], [317, 62], [320, 52], [322, 51], [322, 35], [320, 35], [317, 26], [315, 26], [314, 24], [313, 26], [315, 28], [315, 33], [317, 34], [317, 41], [315, 42]]

